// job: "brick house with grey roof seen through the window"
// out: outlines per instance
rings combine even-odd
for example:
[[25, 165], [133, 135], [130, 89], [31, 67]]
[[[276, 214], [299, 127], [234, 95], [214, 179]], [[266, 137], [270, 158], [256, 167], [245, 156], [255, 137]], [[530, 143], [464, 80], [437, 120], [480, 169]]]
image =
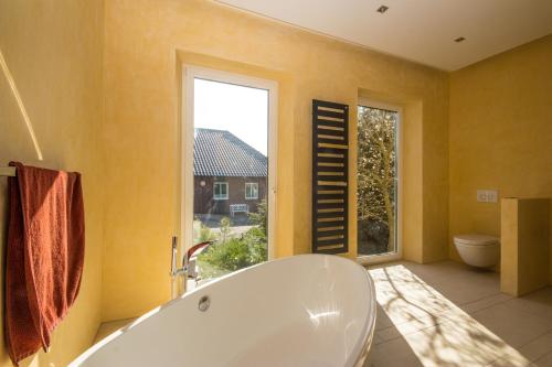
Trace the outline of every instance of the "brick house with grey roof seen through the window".
[[256, 212], [266, 198], [267, 173], [267, 158], [230, 131], [195, 129], [194, 214]]

